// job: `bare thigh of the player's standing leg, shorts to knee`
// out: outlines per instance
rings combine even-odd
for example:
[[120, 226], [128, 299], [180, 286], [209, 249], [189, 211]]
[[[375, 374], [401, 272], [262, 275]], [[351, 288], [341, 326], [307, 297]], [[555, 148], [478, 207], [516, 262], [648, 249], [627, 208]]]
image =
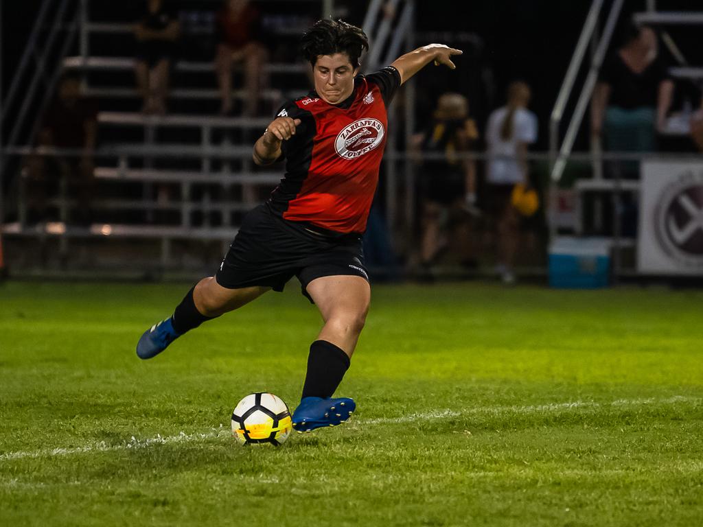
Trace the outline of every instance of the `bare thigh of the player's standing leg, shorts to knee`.
[[322, 276], [307, 285], [307, 293], [323, 320], [344, 318], [363, 325], [371, 304], [368, 281], [356, 275]]

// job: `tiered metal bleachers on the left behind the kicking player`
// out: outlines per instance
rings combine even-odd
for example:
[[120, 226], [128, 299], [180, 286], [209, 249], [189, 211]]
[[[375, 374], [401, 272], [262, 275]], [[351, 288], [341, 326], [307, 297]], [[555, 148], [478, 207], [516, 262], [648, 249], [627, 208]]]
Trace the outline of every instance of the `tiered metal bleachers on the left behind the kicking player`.
[[[414, 2], [389, 3], [399, 13], [393, 22], [396, 32], [391, 31], [382, 0], [365, 6], [363, 27], [376, 43], [367, 66], [388, 60], [398, 53], [401, 42], [411, 39]], [[270, 56], [263, 67], [267, 82], [259, 90], [257, 117], [239, 117], [247, 93], [240, 88], [243, 72], [236, 67], [234, 111], [219, 115], [213, 61], [214, 12], [221, 4], [221, 0], [170, 2], [179, 12], [181, 53], [172, 60], [165, 115], [143, 114], [136, 90], [132, 31], [141, 3], [46, 0], [41, 4], [10, 93], [0, 107], [0, 130], [3, 124], [11, 128], [0, 145], [0, 205], [8, 204], [7, 210], [0, 207], [0, 221], [10, 219], [0, 223], [0, 233], [21, 247], [13, 251], [20, 255], [15, 269], [37, 263], [40, 274], [101, 268], [91, 253], [94, 247], [109, 247], [103, 260], [106, 267], [131, 265], [137, 273], [145, 266], [149, 272], [174, 271], [186, 260], [200, 261], [195, 266], [205, 260], [212, 265], [206, 253], [221, 244], [217, 254], [222, 254], [243, 214], [280, 181], [280, 167], [266, 169], [253, 163], [252, 145], [283, 100], [309, 91], [309, 68], [297, 58], [297, 42], [315, 20], [341, 13], [340, 6], [334, 0], [257, 0], [264, 30], [271, 37], [266, 40]], [[64, 73], [78, 77], [82, 96], [95, 100], [99, 108], [98, 145], [91, 152], [96, 193], [87, 222], [85, 216], [77, 219], [79, 200], [71, 195], [65, 174], [57, 174], [58, 191], [49, 196], [49, 212], [43, 219], [32, 211], [25, 183], [27, 160], [85, 155], [82, 150], [36, 145], [42, 113]], [[412, 88], [406, 90], [406, 98], [412, 100], [413, 93]], [[387, 186], [392, 190], [394, 164], [387, 165]], [[15, 184], [4, 186], [5, 176]], [[10, 188], [8, 200], [2, 195], [4, 188]], [[392, 223], [395, 203], [388, 201]], [[46, 263], [44, 256], [30, 256], [25, 248], [34, 245], [50, 247], [52, 257], [59, 255], [60, 267]], [[155, 251], [160, 252], [156, 267], [151, 265]], [[75, 254], [88, 253], [85, 266], [70, 261]], [[171, 257], [174, 254], [176, 258]]]

